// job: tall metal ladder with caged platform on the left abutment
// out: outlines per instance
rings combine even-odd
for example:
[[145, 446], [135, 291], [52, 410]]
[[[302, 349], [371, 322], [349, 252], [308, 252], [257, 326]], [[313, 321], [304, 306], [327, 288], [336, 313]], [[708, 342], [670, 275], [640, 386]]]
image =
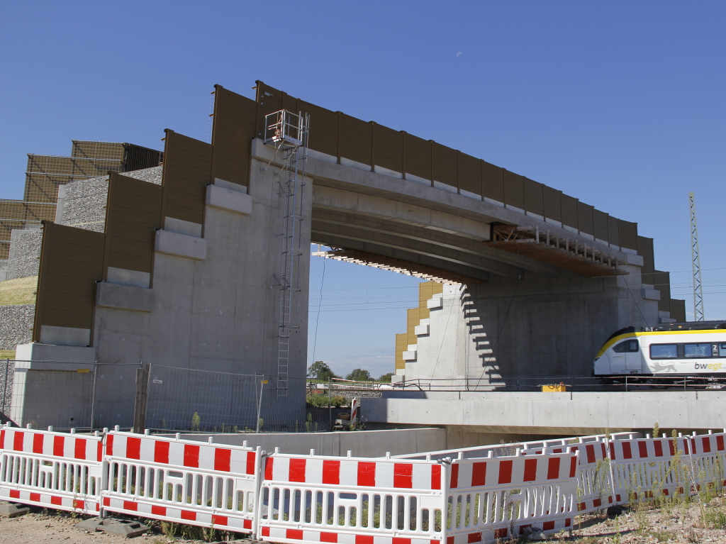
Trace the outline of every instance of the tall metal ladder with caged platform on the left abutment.
[[290, 335], [298, 328], [293, 312], [295, 293], [300, 291], [299, 262], [302, 252], [303, 187], [310, 116], [302, 112], [279, 110], [265, 115], [264, 142], [285, 153], [285, 166], [280, 176], [278, 193], [282, 202], [282, 252], [280, 254], [280, 323], [277, 347], [277, 396], [287, 397], [287, 375], [290, 365]]

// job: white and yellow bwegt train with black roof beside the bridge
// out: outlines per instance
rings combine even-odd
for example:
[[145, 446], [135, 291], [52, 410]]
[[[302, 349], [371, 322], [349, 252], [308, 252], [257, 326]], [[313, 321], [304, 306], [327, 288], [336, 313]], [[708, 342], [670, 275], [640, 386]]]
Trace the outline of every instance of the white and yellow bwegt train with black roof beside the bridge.
[[688, 376], [704, 380], [726, 378], [726, 321], [661, 323], [636, 331], [628, 327], [613, 333], [594, 362], [597, 378], [666, 382]]

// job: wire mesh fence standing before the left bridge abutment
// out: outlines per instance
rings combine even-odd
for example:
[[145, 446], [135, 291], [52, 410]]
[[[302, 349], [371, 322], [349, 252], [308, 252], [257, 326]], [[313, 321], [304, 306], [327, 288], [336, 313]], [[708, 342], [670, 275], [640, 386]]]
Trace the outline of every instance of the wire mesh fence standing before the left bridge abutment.
[[[287, 386], [283, 386], [287, 384]], [[324, 432], [350, 426], [371, 384], [166, 365], [0, 361], [2, 413], [18, 426], [151, 431]]]

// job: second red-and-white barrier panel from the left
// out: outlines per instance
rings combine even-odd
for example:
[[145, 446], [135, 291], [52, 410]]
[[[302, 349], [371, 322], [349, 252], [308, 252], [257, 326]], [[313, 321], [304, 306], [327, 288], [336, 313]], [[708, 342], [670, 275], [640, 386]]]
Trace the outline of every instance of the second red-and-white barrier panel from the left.
[[259, 458], [248, 447], [112, 431], [106, 437], [103, 508], [253, 532]]

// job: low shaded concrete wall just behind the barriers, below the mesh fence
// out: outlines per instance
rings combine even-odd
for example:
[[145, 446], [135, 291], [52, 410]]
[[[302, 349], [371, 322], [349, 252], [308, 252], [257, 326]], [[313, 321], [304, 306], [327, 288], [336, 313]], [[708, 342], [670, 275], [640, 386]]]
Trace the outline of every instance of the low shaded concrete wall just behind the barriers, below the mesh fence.
[[[263, 433], [263, 434], [182, 434], [184, 440], [248, 447], [261, 447], [272, 452], [275, 447], [280, 453], [307, 455], [315, 450], [316, 455], [346, 456], [348, 450], [353, 457], [383, 457], [391, 455], [428, 452], [446, 446], [444, 429], [399, 429], [389, 431], [342, 431], [333, 433]], [[455, 446], [454, 446], [455, 447]]]

